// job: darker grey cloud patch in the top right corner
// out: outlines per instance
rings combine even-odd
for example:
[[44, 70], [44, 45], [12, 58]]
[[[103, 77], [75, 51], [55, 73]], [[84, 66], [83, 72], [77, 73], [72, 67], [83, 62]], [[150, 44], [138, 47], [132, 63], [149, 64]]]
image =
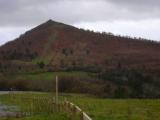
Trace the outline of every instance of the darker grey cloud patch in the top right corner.
[[148, 15], [148, 17], [160, 17], [159, 0], [107, 0], [115, 6], [137, 13], [137, 15]]

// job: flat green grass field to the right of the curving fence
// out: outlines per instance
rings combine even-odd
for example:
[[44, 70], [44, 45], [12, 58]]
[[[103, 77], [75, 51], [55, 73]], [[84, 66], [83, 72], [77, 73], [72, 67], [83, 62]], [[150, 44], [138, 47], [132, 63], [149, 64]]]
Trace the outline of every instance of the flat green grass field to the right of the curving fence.
[[[22, 95], [30, 97], [51, 97], [51, 95], [47, 93], [25, 93]], [[100, 99], [89, 95], [78, 94], [63, 94], [60, 96], [60, 99], [64, 99], [64, 97], [80, 106], [93, 120], [160, 120], [160, 100]], [[0, 101], [4, 104], [13, 104], [8, 95], [1, 95]], [[25, 108], [24, 103], [17, 105]], [[45, 120], [50, 120], [50, 117], [53, 116], [54, 115], [51, 115]], [[36, 117], [38, 118], [39, 116], [33, 117], [35, 117], [33, 119], [36, 120]], [[61, 117], [61, 115], [59, 117]], [[43, 117], [41, 118], [42, 119], [37, 120], [43, 120]], [[62, 118], [58, 120], [63, 120], [64, 118], [66, 120], [68, 119], [67, 116], [63, 114]], [[22, 120], [32, 120], [32, 117], [30, 119], [23, 118]], [[52, 118], [52, 120], [54, 120], [54, 118]], [[55, 118], [55, 120], [57, 119]]]

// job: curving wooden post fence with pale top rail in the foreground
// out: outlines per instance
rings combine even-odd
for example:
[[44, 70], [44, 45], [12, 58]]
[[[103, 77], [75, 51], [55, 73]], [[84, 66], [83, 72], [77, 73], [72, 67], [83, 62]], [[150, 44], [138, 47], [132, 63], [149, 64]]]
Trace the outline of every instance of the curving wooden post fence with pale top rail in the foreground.
[[[10, 96], [13, 100], [17, 97], [17, 95], [13, 93], [10, 94]], [[75, 116], [78, 117], [79, 120], [92, 120], [78, 106], [67, 100], [57, 103], [53, 98], [26, 96], [19, 96], [19, 100], [21, 102], [28, 102], [28, 115], [33, 115], [36, 112], [43, 113], [44, 111], [47, 113], [65, 112], [69, 114], [73, 120]]]

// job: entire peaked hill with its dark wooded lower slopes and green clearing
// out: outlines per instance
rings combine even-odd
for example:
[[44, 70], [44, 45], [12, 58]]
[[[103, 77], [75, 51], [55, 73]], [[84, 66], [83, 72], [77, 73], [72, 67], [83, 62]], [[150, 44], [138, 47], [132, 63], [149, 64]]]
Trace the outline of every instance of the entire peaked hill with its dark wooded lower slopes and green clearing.
[[157, 42], [49, 20], [0, 47], [0, 89], [52, 91], [64, 72], [61, 92], [160, 98], [159, 51]]

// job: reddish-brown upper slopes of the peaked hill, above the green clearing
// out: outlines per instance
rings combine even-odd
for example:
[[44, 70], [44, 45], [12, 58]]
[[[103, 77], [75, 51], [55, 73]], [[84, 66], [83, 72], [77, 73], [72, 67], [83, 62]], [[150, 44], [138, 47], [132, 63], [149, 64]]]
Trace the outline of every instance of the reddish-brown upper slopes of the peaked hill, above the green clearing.
[[160, 69], [160, 44], [47, 21], [0, 47], [1, 61], [54, 69]]

